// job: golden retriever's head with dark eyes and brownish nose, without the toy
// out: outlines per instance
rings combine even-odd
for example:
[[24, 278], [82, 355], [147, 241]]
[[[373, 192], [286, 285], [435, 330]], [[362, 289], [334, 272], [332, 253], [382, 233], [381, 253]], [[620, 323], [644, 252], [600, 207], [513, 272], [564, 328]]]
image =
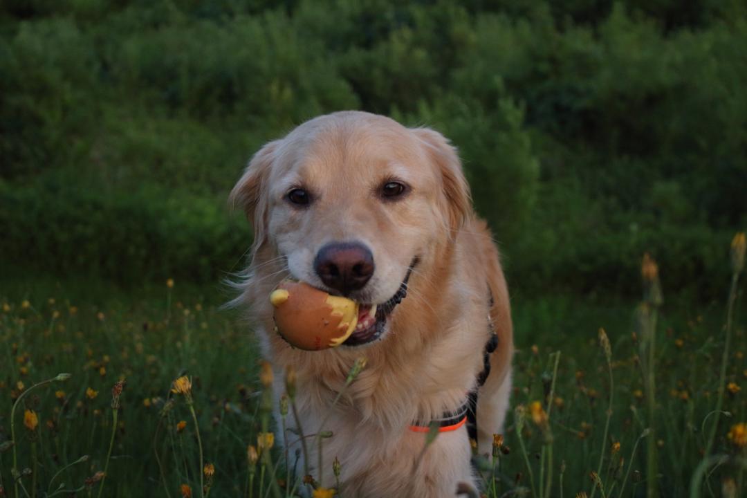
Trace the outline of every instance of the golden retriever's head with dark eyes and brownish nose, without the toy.
[[260, 275], [258, 255], [361, 303], [349, 346], [385, 334], [410, 273], [471, 212], [461, 164], [441, 134], [354, 111], [320, 116], [268, 143], [231, 196], [252, 222], [252, 266], [264, 286], [285, 275]]

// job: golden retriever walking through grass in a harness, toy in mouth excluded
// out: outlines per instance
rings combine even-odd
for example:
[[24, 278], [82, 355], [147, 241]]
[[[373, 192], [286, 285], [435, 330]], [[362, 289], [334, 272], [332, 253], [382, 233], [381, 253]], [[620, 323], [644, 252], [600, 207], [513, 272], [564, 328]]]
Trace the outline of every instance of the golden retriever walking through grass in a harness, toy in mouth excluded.
[[[333, 432], [322, 469], [317, 445], [307, 445], [312, 476], [331, 486], [337, 457], [346, 497], [453, 497], [460, 482], [477, 487], [459, 417], [495, 331], [477, 400], [477, 451], [490, 452], [509, 405], [512, 324], [498, 249], [474, 214], [455, 149], [429, 128], [332, 113], [262, 147], [231, 197], [254, 229], [235, 304], [254, 320], [276, 396], [295, 370], [304, 434]], [[273, 332], [269, 302], [285, 278], [353, 299], [364, 325], [341, 346], [294, 349]], [[361, 356], [365, 368], [330, 408]], [[425, 447], [429, 424], [449, 417]]]

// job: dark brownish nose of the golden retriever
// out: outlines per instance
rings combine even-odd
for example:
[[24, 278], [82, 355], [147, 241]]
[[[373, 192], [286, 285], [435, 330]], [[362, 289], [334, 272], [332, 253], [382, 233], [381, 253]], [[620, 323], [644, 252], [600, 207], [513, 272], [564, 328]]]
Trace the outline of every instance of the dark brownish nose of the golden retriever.
[[356, 242], [330, 243], [314, 258], [314, 271], [324, 284], [347, 296], [361, 289], [373, 275], [373, 255]]

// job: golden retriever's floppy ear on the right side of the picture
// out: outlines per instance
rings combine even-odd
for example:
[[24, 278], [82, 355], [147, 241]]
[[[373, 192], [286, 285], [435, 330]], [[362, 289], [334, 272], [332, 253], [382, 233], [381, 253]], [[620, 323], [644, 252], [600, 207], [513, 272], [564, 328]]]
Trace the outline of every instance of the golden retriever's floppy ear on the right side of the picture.
[[438, 131], [430, 128], [414, 128], [412, 131], [424, 143], [430, 161], [441, 171], [449, 228], [459, 230], [471, 212], [471, 196], [456, 148]]

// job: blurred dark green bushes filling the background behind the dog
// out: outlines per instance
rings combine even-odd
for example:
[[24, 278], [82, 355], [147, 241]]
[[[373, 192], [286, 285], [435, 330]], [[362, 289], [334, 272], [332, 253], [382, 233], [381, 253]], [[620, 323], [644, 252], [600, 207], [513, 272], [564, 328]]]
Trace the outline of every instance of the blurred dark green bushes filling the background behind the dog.
[[459, 147], [515, 293], [723, 296], [747, 225], [740, 0], [4, 0], [0, 269], [205, 284], [226, 195], [320, 113]]

